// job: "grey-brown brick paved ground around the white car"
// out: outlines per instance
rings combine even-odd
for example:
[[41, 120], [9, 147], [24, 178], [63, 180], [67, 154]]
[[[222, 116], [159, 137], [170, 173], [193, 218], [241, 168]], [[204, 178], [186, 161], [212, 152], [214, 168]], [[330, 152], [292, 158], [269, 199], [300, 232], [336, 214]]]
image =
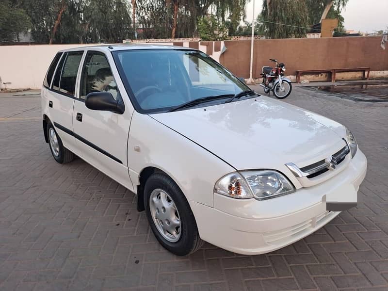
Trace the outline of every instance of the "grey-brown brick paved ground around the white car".
[[133, 194], [80, 159], [54, 162], [38, 96], [0, 94], [0, 290], [387, 291], [388, 103], [300, 87], [286, 102], [353, 130], [369, 162], [357, 208], [267, 255], [206, 244], [178, 258], [156, 242]]

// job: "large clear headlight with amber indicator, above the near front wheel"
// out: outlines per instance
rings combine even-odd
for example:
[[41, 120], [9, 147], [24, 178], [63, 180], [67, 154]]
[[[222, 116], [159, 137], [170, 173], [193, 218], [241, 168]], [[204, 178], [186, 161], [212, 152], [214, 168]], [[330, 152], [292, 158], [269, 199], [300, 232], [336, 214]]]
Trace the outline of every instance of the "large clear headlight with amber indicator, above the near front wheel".
[[271, 170], [241, 171], [219, 179], [214, 191], [233, 198], [264, 200], [295, 192], [282, 174]]

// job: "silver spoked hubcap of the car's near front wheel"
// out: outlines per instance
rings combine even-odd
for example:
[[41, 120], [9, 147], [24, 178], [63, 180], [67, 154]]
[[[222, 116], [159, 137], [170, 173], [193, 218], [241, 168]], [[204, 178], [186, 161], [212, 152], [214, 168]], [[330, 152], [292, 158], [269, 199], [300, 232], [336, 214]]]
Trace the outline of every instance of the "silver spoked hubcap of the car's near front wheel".
[[160, 234], [169, 242], [177, 242], [181, 227], [177, 206], [170, 195], [161, 189], [152, 191], [149, 197], [149, 209], [153, 222]]

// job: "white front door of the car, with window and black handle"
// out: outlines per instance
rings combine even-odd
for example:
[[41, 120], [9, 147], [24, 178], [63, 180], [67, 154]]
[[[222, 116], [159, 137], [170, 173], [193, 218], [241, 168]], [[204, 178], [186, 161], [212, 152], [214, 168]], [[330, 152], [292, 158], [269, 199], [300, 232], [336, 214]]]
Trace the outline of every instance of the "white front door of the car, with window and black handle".
[[121, 98], [104, 53], [88, 51], [81, 70], [79, 99], [74, 104], [73, 128], [82, 158], [128, 189], [127, 145], [131, 112], [123, 114], [90, 110], [85, 97], [91, 92], [110, 92]]

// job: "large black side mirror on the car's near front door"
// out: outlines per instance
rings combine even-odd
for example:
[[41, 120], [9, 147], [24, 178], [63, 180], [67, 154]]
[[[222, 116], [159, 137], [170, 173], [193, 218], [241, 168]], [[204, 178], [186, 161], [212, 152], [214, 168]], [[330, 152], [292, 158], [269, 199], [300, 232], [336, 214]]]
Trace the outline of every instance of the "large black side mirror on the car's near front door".
[[124, 103], [121, 99], [114, 100], [109, 92], [92, 92], [86, 95], [85, 106], [91, 110], [112, 111], [123, 114]]

